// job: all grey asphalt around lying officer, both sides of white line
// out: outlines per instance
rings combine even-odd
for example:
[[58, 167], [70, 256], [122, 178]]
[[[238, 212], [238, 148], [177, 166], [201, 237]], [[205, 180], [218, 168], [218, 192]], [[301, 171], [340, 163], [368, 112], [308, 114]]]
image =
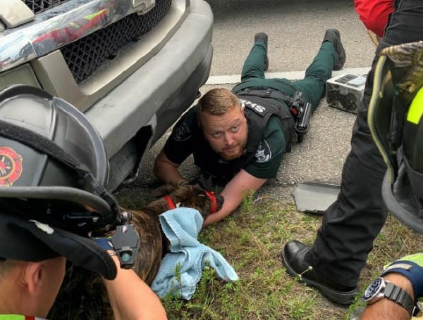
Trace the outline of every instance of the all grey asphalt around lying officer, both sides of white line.
[[[270, 67], [266, 77], [302, 77], [317, 53], [324, 30], [329, 27], [341, 30], [347, 51], [345, 69], [333, 75], [363, 75], [370, 68], [375, 46], [358, 20], [352, 1], [208, 2], [215, 15], [214, 60], [211, 77], [202, 87], [202, 93], [214, 87], [231, 89], [239, 81], [240, 69], [252, 46], [254, 34], [263, 30], [269, 30]], [[343, 163], [350, 151], [354, 121], [355, 114], [332, 108], [326, 103], [326, 98], [322, 99], [312, 115], [304, 141], [294, 143], [292, 152], [286, 153], [283, 158], [276, 179], [266, 182], [256, 196], [266, 195], [293, 203], [291, 193], [299, 182], [340, 184]], [[152, 163], [168, 134], [170, 130], [147, 153], [137, 186], [157, 186], [158, 182], [152, 175]], [[188, 177], [195, 177], [198, 173], [192, 158], [184, 162], [181, 170]]]

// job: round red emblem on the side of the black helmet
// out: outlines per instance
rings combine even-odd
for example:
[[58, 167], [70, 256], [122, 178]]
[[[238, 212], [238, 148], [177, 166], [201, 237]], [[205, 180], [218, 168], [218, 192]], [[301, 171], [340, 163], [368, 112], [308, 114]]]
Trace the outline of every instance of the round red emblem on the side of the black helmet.
[[22, 156], [8, 147], [0, 147], [0, 186], [11, 186], [22, 173]]

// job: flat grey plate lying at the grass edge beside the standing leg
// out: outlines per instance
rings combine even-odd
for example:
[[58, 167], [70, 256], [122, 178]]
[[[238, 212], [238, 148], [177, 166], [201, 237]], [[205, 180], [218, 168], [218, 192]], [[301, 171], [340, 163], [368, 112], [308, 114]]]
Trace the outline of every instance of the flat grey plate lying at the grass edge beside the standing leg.
[[292, 195], [299, 211], [323, 215], [326, 209], [336, 201], [340, 190], [340, 186], [336, 184], [301, 182]]

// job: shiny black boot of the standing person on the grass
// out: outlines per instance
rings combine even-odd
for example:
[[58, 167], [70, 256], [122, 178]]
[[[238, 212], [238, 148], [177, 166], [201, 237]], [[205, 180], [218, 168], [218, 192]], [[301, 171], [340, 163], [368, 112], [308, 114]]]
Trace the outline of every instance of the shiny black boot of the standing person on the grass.
[[321, 290], [321, 293], [333, 302], [341, 305], [353, 303], [355, 294], [358, 292], [357, 287], [342, 286], [329, 280], [327, 276], [319, 275], [306, 262], [305, 257], [310, 250], [312, 248], [309, 245], [305, 245], [300, 241], [286, 243], [281, 252], [281, 259], [288, 274], [298, 276], [299, 281]]

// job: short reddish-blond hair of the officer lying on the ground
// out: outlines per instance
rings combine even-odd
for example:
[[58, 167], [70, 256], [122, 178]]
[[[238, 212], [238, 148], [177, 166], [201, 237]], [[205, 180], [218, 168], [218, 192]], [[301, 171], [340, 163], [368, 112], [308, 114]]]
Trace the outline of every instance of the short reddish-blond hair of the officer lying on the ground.
[[197, 103], [198, 115], [210, 113], [212, 115], [223, 115], [231, 110], [235, 105], [240, 105], [240, 101], [231, 90], [224, 88], [212, 89], [204, 94]]

